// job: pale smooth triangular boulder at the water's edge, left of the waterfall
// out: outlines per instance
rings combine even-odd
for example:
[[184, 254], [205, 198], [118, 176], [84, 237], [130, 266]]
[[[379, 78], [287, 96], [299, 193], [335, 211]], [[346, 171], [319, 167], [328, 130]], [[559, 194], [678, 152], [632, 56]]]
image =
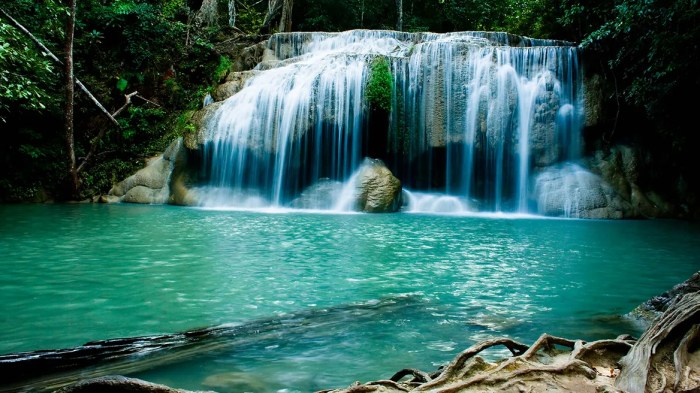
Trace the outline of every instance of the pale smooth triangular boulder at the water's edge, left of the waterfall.
[[163, 155], [149, 160], [145, 168], [115, 184], [104, 200], [115, 201], [116, 197], [129, 203], [166, 203], [170, 197], [170, 174], [182, 146], [182, 139], [175, 140]]

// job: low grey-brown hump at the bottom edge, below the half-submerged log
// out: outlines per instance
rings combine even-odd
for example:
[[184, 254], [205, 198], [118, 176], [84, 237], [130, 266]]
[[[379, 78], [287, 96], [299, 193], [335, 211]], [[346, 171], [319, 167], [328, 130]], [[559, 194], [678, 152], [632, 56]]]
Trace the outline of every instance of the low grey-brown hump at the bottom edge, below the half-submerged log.
[[[54, 393], [195, 393], [190, 390], [173, 389], [136, 378], [107, 376], [86, 379], [74, 385], [61, 388]], [[213, 393], [213, 392], [210, 392]]]

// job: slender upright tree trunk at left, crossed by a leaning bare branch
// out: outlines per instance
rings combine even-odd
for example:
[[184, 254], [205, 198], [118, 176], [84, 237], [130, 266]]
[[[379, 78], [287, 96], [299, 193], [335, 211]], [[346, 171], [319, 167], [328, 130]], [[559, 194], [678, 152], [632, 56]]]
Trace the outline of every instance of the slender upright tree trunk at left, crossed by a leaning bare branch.
[[73, 130], [73, 97], [75, 94], [75, 80], [73, 77], [73, 35], [75, 33], [75, 0], [68, 0], [68, 21], [66, 23], [66, 48], [65, 48], [65, 133], [66, 146], [68, 148], [68, 175], [70, 177], [70, 193], [72, 198], [77, 198], [80, 189], [78, 168], [75, 159], [75, 136]]

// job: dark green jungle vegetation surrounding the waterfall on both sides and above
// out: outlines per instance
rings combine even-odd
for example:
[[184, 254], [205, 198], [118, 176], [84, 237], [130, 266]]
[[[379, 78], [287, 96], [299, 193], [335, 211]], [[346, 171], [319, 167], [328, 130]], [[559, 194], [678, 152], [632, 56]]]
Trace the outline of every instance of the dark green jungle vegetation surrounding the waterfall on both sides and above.
[[[606, 121], [587, 130], [588, 142], [640, 143], [659, 163], [664, 187], [700, 184], [698, 132], [688, 126], [700, 82], [697, 0], [83, 0], [75, 13], [71, 3], [0, 6], [0, 201], [107, 192], [188, 131], [182, 116], [226, 74], [231, 59], [221, 44], [232, 37], [358, 28], [507, 31], [578, 43], [606, 89]], [[80, 89], [68, 105], [69, 58], [74, 78], [107, 112], [122, 109], [114, 121]]]

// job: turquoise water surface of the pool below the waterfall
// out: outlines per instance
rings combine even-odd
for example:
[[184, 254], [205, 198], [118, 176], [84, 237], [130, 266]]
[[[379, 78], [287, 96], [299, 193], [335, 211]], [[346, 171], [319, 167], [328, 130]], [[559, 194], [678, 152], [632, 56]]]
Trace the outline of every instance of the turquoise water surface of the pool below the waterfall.
[[700, 268], [700, 227], [682, 221], [134, 205], [0, 217], [0, 354], [276, 321], [127, 372], [220, 392], [432, 371], [496, 336], [638, 335], [619, 316]]

